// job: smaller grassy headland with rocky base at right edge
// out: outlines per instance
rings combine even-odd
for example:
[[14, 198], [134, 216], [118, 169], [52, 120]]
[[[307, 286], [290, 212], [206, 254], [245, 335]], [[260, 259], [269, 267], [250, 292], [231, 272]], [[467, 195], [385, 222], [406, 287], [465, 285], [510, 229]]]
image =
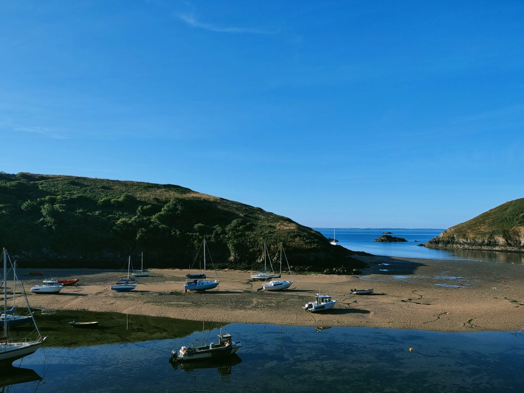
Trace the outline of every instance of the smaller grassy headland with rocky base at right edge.
[[524, 198], [452, 226], [423, 244], [429, 248], [524, 251]]

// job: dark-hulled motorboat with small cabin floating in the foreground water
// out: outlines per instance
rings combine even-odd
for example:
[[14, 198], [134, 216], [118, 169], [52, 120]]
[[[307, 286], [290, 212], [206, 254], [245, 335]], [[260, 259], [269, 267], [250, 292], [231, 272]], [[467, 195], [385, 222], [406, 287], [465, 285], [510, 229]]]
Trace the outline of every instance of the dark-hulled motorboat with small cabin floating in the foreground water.
[[214, 342], [210, 345], [202, 345], [198, 347], [182, 346], [179, 351], [171, 351], [171, 362], [188, 362], [198, 361], [211, 358], [227, 357], [236, 353], [242, 344], [239, 341], [233, 341], [231, 334], [222, 332], [219, 334], [219, 343]]

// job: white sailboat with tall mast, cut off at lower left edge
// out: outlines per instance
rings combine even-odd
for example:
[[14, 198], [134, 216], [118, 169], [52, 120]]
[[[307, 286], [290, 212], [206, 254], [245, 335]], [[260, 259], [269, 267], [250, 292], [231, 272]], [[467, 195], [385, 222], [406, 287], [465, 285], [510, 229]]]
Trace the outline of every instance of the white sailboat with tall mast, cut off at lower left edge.
[[[3, 260], [4, 260], [4, 278], [7, 277], [7, 250], [4, 248], [3, 252]], [[10, 261], [10, 258], [9, 258]], [[13, 264], [13, 276], [14, 281], [18, 281], [18, 278], [16, 276], [16, 270], [15, 266], [16, 263]], [[7, 286], [4, 285], [4, 310], [7, 310]], [[40, 331], [38, 330], [38, 326], [36, 324], [35, 318], [32, 315], [31, 308], [29, 307], [29, 301], [27, 300], [24, 287], [20, 286], [21, 293], [23, 294], [23, 297], [26, 301], [26, 307], [28, 309], [29, 314], [31, 315], [31, 319], [35, 324], [35, 330], [38, 334], [38, 336], [35, 339], [32, 339], [31, 337], [25, 337], [23, 340], [15, 340], [13, 339], [10, 329], [8, 329], [8, 323], [4, 323], [4, 336], [0, 337], [0, 364], [11, 364], [16, 359], [19, 359], [21, 357], [30, 355], [34, 353], [40, 346], [43, 344], [43, 342], [46, 340], [47, 337], [42, 337], [40, 334]]]

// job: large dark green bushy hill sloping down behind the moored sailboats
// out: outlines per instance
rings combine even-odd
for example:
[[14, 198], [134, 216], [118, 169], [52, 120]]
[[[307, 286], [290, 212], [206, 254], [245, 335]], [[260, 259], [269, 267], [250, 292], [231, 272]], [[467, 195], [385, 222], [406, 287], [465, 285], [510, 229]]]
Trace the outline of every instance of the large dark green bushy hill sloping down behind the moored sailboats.
[[0, 242], [19, 265], [183, 267], [203, 237], [219, 267], [260, 268], [284, 244], [298, 270], [363, 264], [319, 232], [260, 208], [171, 184], [0, 173]]

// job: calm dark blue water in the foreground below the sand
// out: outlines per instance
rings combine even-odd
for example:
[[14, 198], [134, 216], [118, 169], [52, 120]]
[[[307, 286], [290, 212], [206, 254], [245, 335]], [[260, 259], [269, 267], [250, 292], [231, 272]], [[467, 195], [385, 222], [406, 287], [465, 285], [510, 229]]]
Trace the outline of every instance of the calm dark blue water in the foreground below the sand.
[[[223, 332], [242, 341], [238, 356], [214, 364], [173, 366], [168, 362], [173, 348], [202, 342], [202, 322], [37, 314], [43, 333], [50, 335], [47, 346], [15, 362], [25, 370], [0, 372], [5, 391], [493, 393], [524, 386], [524, 336], [517, 332], [234, 323], [224, 325]], [[94, 318], [100, 320], [96, 330], [67, 325], [71, 319]], [[206, 343], [216, 341], [219, 325], [206, 326]]]

